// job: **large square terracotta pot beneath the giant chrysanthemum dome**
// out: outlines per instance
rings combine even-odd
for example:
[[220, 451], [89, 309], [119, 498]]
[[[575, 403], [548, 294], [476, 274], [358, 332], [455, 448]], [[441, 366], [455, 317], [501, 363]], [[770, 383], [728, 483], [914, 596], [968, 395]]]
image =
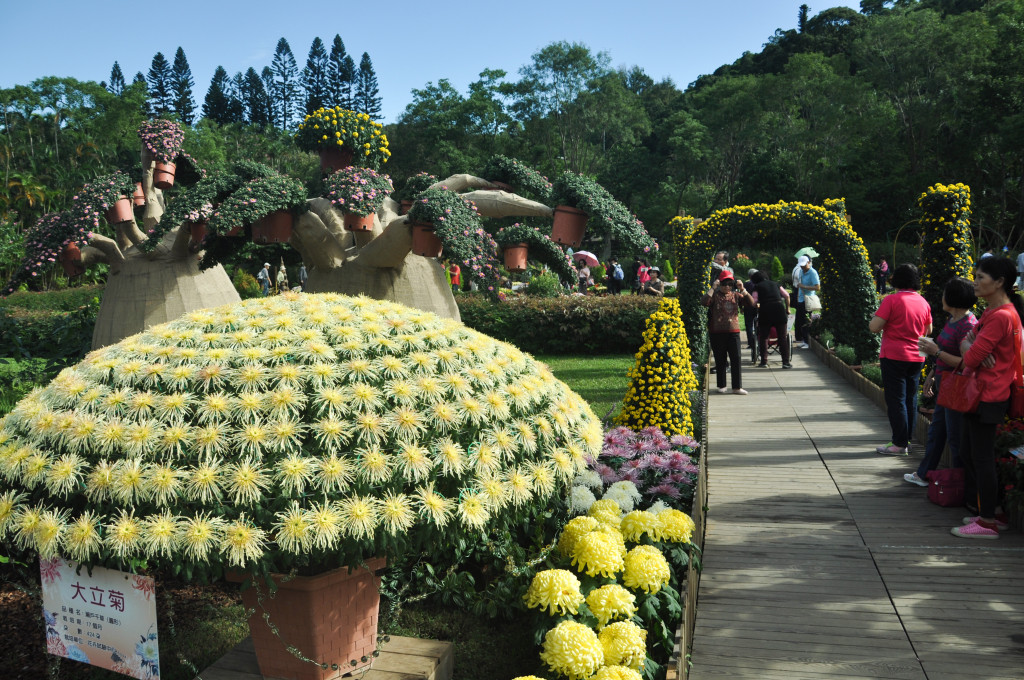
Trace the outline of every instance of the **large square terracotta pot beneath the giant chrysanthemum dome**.
[[[351, 572], [343, 566], [291, 580], [274, 575], [278, 591], [272, 597], [263, 583], [257, 584], [258, 590], [244, 590], [243, 604], [255, 610], [249, 618], [249, 631], [260, 673], [267, 678], [332, 680], [370, 666], [377, 648], [380, 608], [381, 580], [375, 572], [385, 563], [383, 557], [376, 557]], [[232, 580], [237, 579], [238, 575]], [[278, 635], [263, 620], [264, 611]], [[296, 658], [288, 645], [327, 664], [328, 669]]]

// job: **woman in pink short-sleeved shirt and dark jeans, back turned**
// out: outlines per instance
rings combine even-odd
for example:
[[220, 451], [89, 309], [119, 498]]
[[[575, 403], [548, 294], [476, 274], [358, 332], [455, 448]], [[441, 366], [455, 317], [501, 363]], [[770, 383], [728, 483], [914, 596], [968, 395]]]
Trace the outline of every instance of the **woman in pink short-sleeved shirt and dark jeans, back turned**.
[[932, 332], [932, 308], [918, 293], [921, 274], [912, 264], [893, 271], [896, 292], [882, 301], [867, 325], [871, 333], [882, 333], [882, 389], [893, 438], [874, 451], [887, 456], [906, 456], [913, 422], [918, 419], [918, 381], [925, 359], [918, 351], [918, 338]]

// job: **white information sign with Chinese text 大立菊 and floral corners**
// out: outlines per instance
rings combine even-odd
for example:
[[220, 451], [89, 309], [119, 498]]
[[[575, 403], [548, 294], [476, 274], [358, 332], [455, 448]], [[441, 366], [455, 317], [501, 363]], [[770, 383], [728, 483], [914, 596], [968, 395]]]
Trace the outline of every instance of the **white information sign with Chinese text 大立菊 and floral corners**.
[[39, 562], [46, 650], [140, 680], [160, 678], [154, 580], [77, 567], [60, 557]]

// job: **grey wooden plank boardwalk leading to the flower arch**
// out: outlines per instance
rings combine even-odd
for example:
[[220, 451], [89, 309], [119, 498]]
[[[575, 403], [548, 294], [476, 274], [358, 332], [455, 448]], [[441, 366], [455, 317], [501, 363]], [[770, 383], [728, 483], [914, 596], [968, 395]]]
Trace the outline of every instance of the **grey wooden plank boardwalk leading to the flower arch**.
[[[1024, 678], [1024, 536], [949, 534], [886, 416], [810, 350], [712, 392], [691, 680]], [[714, 376], [712, 383], [714, 385]]]

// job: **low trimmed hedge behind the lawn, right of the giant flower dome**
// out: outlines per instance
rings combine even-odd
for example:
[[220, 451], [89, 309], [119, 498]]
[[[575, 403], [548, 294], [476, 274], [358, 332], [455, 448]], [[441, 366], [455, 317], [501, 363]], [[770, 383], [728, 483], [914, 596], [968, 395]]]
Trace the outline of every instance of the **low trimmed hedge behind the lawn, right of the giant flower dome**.
[[640, 295], [456, 297], [462, 323], [531, 354], [633, 354], [660, 298]]

